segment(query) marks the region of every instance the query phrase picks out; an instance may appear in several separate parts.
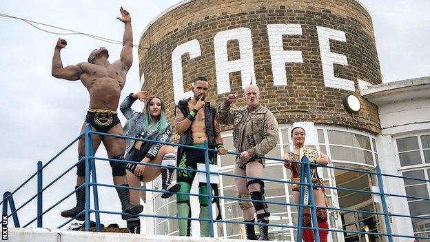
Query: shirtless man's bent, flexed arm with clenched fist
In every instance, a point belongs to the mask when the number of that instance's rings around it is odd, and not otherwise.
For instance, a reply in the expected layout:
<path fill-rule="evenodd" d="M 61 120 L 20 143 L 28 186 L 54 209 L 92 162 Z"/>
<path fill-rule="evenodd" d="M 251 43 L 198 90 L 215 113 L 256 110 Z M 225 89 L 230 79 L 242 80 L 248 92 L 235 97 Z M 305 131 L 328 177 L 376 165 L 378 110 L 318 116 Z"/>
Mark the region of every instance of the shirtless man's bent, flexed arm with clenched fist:
<path fill-rule="evenodd" d="M 65 48 L 65 46 L 67 46 L 67 42 L 64 39 L 58 39 L 54 50 L 54 56 L 52 57 L 52 76 L 69 81 L 79 80 L 82 73 L 82 69 L 79 65 L 68 65 L 63 68 L 60 50 Z"/>

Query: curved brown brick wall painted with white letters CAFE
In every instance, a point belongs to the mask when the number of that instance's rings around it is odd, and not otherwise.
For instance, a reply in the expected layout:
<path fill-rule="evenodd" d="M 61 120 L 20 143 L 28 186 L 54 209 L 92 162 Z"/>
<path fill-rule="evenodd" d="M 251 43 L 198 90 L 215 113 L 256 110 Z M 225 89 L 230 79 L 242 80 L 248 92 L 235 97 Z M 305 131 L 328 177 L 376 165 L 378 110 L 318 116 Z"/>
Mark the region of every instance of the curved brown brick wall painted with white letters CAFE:
<path fill-rule="evenodd" d="M 209 79 L 207 101 L 216 105 L 256 79 L 260 102 L 279 123 L 314 121 L 380 133 L 378 110 L 358 88 L 358 80 L 381 83 L 371 17 L 355 0 L 316 2 L 179 3 L 141 35 L 143 90 L 163 97 L 173 122 L 175 99 L 185 97 L 195 77 Z M 362 103 L 354 117 L 342 105 L 347 94 Z"/>

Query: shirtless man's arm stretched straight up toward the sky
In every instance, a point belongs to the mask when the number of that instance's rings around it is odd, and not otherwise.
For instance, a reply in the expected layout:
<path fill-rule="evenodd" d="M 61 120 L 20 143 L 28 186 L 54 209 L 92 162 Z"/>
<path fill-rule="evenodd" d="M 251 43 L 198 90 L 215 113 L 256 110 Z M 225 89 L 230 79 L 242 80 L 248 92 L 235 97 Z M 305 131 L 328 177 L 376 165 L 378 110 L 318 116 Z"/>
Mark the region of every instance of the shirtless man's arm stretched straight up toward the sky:
<path fill-rule="evenodd" d="M 119 21 L 124 23 L 124 35 L 123 35 L 123 50 L 121 50 L 120 59 L 123 64 L 123 70 L 129 70 L 133 63 L 133 32 L 132 32 L 132 17 L 123 7 L 119 9 L 121 12 L 121 18 L 117 17 Z"/>

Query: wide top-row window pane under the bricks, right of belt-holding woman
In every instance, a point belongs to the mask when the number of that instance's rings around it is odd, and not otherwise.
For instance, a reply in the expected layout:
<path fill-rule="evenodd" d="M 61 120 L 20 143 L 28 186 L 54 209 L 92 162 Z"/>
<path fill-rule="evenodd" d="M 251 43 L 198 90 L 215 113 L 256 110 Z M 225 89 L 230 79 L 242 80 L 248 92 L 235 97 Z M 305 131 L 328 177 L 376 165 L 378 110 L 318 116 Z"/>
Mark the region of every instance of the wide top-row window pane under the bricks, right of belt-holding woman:
<path fill-rule="evenodd" d="M 357 148 L 371 150 L 370 139 L 361 134 L 353 134 L 336 130 L 328 130 L 329 143 L 336 145 L 349 145 Z"/>

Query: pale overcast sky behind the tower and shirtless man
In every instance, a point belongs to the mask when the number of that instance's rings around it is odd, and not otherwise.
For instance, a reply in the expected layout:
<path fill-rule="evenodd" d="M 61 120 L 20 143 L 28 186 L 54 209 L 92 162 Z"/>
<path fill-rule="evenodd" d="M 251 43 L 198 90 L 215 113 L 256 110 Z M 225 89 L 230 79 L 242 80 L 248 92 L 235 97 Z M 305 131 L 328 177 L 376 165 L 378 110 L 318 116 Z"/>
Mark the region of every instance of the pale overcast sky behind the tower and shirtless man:
<path fill-rule="evenodd" d="M 119 7 L 132 16 L 134 44 L 147 24 L 158 14 L 178 3 L 174 0 L 152 1 L 22 1 L 3 0 L 0 14 L 8 14 L 52 26 L 76 30 L 121 41 L 123 23 Z M 430 76 L 430 1 L 428 0 L 361 0 L 373 19 L 376 46 L 383 82 Z M 52 32 L 67 31 L 38 26 Z M 65 81 L 51 76 L 54 46 L 61 37 L 68 46 L 61 51 L 63 65 L 86 61 L 94 48 L 106 47 L 111 63 L 119 58 L 121 45 L 103 42 L 81 34 L 50 34 L 17 19 L 0 17 L 0 192 L 14 190 L 36 172 L 37 161 L 50 160 L 79 135 L 88 109 L 88 91 L 80 81 Z M 134 63 L 120 102 L 130 92 L 139 90 L 139 61 L 133 50 Z M 136 102 L 134 109 L 140 109 Z M 121 123 L 125 118 L 119 114 Z M 106 157 L 103 146 L 96 156 Z M 76 145 L 43 170 L 44 185 L 77 161 Z M 69 172 L 43 194 L 44 209 L 72 190 L 74 172 Z M 109 165 L 97 165 L 100 183 L 112 183 Z M 36 194 L 36 181 L 14 196 L 17 206 Z M 100 188 L 101 209 L 120 210 L 116 193 Z M 21 226 L 36 216 L 35 200 L 19 213 Z M 71 208 L 74 197 L 48 212 L 44 227 L 63 223 L 61 210 Z M 102 216 L 102 222 L 125 225 L 117 216 Z M 12 224 L 12 220 L 9 221 Z M 36 226 L 35 223 L 32 225 Z"/>

